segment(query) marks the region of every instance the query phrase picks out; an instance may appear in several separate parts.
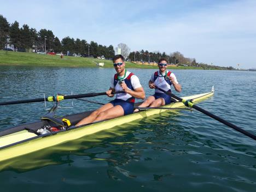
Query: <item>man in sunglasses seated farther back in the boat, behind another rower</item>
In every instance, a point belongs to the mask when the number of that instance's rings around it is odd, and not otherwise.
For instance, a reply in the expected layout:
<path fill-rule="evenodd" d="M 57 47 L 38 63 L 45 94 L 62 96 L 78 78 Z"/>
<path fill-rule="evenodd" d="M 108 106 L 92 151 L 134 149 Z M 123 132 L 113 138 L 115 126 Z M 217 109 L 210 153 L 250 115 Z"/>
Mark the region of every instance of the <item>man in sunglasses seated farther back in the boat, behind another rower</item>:
<path fill-rule="evenodd" d="M 152 74 L 148 86 L 150 89 L 155 89 L 155 94 L 149 96 L 146 101 L 140 104 L 138 107 L 160 107 L 165 104 L 171 103 L 171 97 L 164 92 L 156 89 L 161 88 L 165 91 L 171 92 L 171 85 L 178 92 L 181 92 L 181 85 L 178 83 L 176 76 L 171 71 L 167 71 L 167 60 L 162 58 L 158 61 L 159 71 Z M 134 112 L 138 112 L 135 109 Z"/>

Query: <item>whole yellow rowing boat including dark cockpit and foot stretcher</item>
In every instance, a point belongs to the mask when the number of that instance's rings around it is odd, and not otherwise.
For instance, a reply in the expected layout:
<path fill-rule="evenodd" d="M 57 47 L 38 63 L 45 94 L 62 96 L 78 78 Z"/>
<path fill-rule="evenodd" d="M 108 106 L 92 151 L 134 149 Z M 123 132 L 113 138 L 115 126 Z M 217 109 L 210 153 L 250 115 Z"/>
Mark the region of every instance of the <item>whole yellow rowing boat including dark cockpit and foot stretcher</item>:
<path fill-rule="evenodd" d="M 213 93 L 214 91 L 212 90 L 211 92 L 206 92 L 204 94 L 182 97 L 182 99 L 197 102 L 212 96 Z M 135 106 L 138 106 L 139 104 L 140 103 L 136 103 Z M 42 121 L 38 121 L 36 123 L 28 123 L 11 127 L 7 130 L 0 131 L 0 161 L 36 152 L 44 148 L 49 148 L 57 144 L 65 143 L 86 135 L 91 135 L 98 131 L 110 129 L 114 126 L 129 123 L 131 121 L 149 117 L 168 110 L 164 108 L 175 109 L 183 106 L 183 102 L 177 100 L 176 102 L 162 106 L 163 109 L 140 110 L 137 113 L 125 115 L 123 117 L 77 127 L 71 126 L 65 130 L 59 129 L 58 131 L 46 132 L 41 135 L 37 133 L 37 130 L 49 123 L 48 118 L 43 118 Z M 87 117 L 91 112 L 92 111 L 88 111 L 56 118 L 56 121 L 50 121 L 50 125 L 51 127 L 59 128 L 60 125 L 58 120 L 61 121 L 62 119 L 68 119 L 72 125 L 75 125 L 81 119 Z"/>

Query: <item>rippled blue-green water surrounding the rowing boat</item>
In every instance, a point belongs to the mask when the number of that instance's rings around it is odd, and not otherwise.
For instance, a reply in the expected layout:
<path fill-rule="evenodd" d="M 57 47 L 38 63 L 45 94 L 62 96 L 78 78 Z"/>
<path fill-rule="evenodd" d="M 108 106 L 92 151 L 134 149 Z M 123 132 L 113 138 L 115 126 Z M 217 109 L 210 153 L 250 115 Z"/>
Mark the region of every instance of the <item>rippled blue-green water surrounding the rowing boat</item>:
<path fill-rule="evenodd" d="M 154 69 L 130 69 L 146 90 Z M 0 66 L 0 101 L 103 92 L 114 69 Z M 199 106 L 256 134 L 256 74 L 173 70 L 182 92 L 209 92 Z M 91 98 L 108 102 L 106 96 Z M 78 100 L 58 115 L 96 109 Z M 63 101 L 62 107 L 72 106 Z M 48 108 L 50 104 L 48 103 Z M 1 106 L 0 130 L 36 121 L 44 103 Z M 167 112 L 1 164 L 6 191 L 254 191 L 255 141 L 206 115 Z"/>

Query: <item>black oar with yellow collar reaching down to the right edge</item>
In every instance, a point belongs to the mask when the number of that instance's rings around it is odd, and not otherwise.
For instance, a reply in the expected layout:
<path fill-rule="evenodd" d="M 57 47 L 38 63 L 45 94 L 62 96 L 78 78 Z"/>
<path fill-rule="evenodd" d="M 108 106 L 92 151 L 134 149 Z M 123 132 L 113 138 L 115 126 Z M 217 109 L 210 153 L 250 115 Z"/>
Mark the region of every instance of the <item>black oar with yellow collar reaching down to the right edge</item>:
<path fill-rule="evenodd" d="M 161 89 L 161 88 L 156 87 L 156 89 L 158 89 L 158 90 L 164 92 L 164 93 L 167 94 L 167 95 L 170 95 L 171 97 L 175 98 L 175 99 L 178 100 L 178 101 L 183 102 L 183 103 L 185 104 L 185 106 L 190 107 L 190 108 L 194 108 L 194 109 L 196 109 L 196 110 L 199 110 L 199 111 L 202 112 L 203 114 L 206 114 L 206 115 L 208 115 L 209 117 L 211 117 L 211 118 L 213 118 L 213 119 L 216 119 L 216 120 L 219 121 L 220 123 L 223 123 L 223 124 L 225 124 L 226 126 L 229 126 L 229 127 L 231 127 L 232 129 L 234 129 L 234 130 L 236 130 L 236 131 L 238 131 L 238 132 L 243 133 L 243 135 L 246 135 L 246 136 L 251 137 L 252 139 L 256 140 L 256 136 L 253 135 L 252 133 L 249 133 L 249 132 L 247 132 L 247 131 L 241 129 L 240 127 L 238 127 L 238 126 L 236 126 L 236 125 L 234 125 L 234 124 L 232 124 L 232 123 L 229 123 L 228 121 L 226 121 L 226 120 L 224 120 L 224 119 L 222 119 L 222 118 L 220 118 L 220 117 L 218 117 L 218 116 L 216 116 L 216 115 L 214 115 L 214 114 L 208 112 L 207 110 L 202 109 L 201 107 L 196 106 L 194 103 L 192 103 L 192 102 L 190 102 L 190 101 L 188 101 L 188 100 L 184 100 L 183 98 L 178 97 L 178 96 L 172 94 L 171 92 L 167 92 L 167 91 L 165 91 L 165 90 L 163 90 L 163 89 Z"/>

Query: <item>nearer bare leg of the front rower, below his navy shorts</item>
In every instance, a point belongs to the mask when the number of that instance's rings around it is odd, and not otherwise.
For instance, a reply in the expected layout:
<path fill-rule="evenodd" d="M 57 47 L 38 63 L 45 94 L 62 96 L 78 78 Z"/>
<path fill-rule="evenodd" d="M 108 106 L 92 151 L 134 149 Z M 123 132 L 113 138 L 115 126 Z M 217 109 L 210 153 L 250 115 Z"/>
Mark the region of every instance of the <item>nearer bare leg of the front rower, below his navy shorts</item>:
<path fill-rule="evenodd" d="M 101 121 L 104 119 L 113 119 L 121 116 L 124 116 L 124 109 L 123 107 L 117 105 L 115 107 L 109 108 L 99 113 L 97 115 L 97 118 L 94 121 Z"/>

